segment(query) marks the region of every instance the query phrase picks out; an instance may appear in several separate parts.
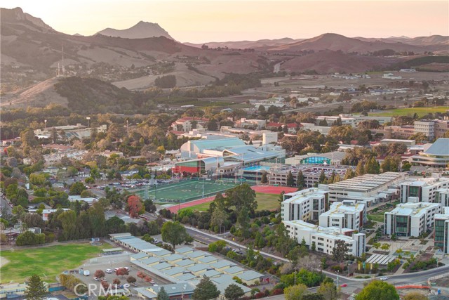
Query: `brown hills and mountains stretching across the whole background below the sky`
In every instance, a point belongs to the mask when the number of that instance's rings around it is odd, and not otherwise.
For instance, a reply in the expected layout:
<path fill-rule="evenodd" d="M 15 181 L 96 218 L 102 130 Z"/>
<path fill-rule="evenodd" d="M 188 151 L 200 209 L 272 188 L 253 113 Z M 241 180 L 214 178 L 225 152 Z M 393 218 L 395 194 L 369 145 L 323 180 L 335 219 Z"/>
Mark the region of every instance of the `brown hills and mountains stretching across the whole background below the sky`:
<path fill-rule="evenodd" d="M 2 71 L 5 67 L 9 67 L 8 70 L 18 69 L 17 67 L 32 69 L 27 72 L 29 81 L 43 81 L 54 77 L 58 65 L 64 65 L 72 72 L 83 70 L 83 74 L 93 76 L 91 72 L 98 65 L 107 65 L 110 69 L 119 66 L 145 67 L 145 70 L 152 70 L 152 66 L 158 63 L 170 63 L 173 70 L 163 74 L 175 75 L 177 86 L 208 84 L 232 72 L 269 73 L 273 72 L 277 63 L 281 63 L 281 71 L 314 70 L 321 74 L 389 70 L 389 67 L 397 69 L 398 66 L 420 65 L 427 65 L 426 70 L 441 71 L 447 70 L 446 66 L 449 65 L 449 37 L 439 35 L 378 39 L 351 38 L 326 33 L 311 39 L 286 37 L 258 41 L 210 42 L 204 43 L 208 46 L 206 49 L 201 48 L 203 44 L 177 42 L 166 30 L 151 22 L 138 22 L 126 30 L 107 28 L 93 36 L 85 37 L 53 30 L 43 20 L 24 13 L 21 8 L 1 8 L 0 13 Z M 406 52 L 408 56 L 373 56 L 375 51 L 382 52 L 386 49 L 390 49 L 387 53 Z M 429 56 L 429 51 L 436 56 Z M 22 70 L 15 72 L 24 74 Z M 113 84 L 119 88 L 147 89 L 160 74 L 156 70 L 150 74 L 142 73 L 138 78 L 131 76 L 130 79 L 117 79 L 121 81 L 115 81 Z M 100 78 L 115 80 L 108 76 L 102 74 Z M 33 101 L 41 105 L 51 103 L 52 99 L 55 99 L 51 89 L 53 84 L 51 80 L 45 81 L 34 89 L 29 88 L 26 93 L 17 92 L 9 99 L 13 103 L 20 103 L 27 97 L 30 101 L 38 99 Z M 105 88 L 106 90 L 112 89 Z M 8 97 L 10 95 L 6 95 L 4 99 Z"/>

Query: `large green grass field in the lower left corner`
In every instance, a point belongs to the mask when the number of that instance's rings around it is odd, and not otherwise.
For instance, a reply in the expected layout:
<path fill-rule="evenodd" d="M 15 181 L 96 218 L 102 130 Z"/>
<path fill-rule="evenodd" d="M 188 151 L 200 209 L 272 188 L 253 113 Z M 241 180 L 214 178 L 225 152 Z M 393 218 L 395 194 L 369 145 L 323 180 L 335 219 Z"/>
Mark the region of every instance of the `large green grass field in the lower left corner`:
<path fill-rule="evenodd" d="M 98 256 L 109 244 L 61 244 L 51 247 L 2 251 L 1 258 L 9 262 L 1 267 L 1 282 L 24 282 L 37 274 L 48 282 L 55 282 L 55 276 L 63 270 L 81 266 L 83 261 Z"/>

